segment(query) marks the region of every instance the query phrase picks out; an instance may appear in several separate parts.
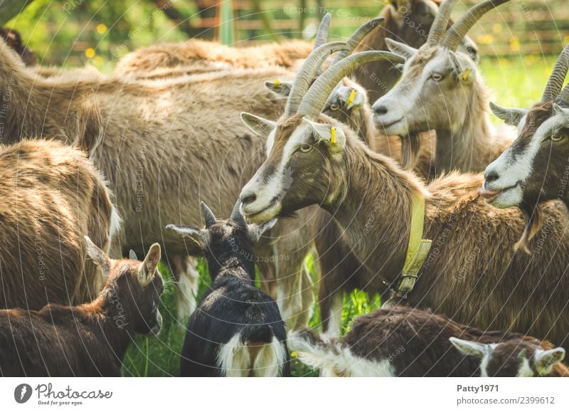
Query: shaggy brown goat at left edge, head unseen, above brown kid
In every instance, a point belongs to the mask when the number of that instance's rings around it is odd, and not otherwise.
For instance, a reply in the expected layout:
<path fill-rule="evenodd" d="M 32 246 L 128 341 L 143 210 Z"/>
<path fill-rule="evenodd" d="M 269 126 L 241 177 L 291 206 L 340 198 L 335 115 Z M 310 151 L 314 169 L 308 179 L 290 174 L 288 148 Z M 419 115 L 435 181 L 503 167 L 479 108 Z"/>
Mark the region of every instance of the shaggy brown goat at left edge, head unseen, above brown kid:
<path fill-rule="evenodd" d="M 75 144 L 85 152 L 52 140 L 0 145 L 0 308 L 88 302 L 102 286 L 81 237 L 108 250 L 119 218 L 85 155 L 100 137 L 97 114 L 81 113 Z"/>

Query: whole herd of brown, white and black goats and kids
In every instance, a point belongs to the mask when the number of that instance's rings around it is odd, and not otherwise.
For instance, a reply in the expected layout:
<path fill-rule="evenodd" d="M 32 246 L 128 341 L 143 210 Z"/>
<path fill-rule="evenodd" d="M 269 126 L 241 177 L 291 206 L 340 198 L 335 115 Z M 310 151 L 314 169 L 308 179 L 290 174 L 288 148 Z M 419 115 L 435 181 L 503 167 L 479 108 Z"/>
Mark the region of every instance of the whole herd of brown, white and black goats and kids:
<path fill-rule="evenodd" d="M 345 43 L 326 15 L 314 46 L 159 44 L 110 75 L 26 66 L 4 33 L 0 375 L 119 376 L 161 329 L 164 260 L 183 376 L 289 376 L 289 349 L 322 376 L 569 376 L 569 46 L 530 110 L 490 103 L 467 31 L 507 1 L 454 23 L 455 0 L 391 1 Z M 390 299 L 340 339 L 354 288 Z"/>

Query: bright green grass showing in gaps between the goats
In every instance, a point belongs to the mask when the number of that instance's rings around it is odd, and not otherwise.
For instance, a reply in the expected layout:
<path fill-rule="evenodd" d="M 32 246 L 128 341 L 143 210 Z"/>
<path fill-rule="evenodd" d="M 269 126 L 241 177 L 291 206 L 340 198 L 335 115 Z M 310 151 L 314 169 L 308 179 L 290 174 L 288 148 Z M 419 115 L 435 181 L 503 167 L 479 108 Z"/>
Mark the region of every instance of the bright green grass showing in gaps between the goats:
<path fill-rule="evenodd" d="M 538 58 L 528 56 L 516 60 L 485 59 L 480 69 L 486 80 L 486 85 L 493 92 L 492 100 L 504 106 L 530 107 L 541 99 L 543 88 L 547 82 L 555 58 Z M 501 121 L 492 115 L 493 122 Z M 317 283 L 317 268 L 314 260 L 309 256 L 307 265 L 312 278 Z M 209 282 L 207 264 L 201 262 L 201 273 L 198 299 L 201 297 Z M 171 279 L 169 271 L 161 266 L 161 273 L 166 279 Z M 341 333 L 347 332 L 353 319 L 364 313 L 380 307 L 379 297 L 368 299 L 365 293 L 353 291 L 344 297 L 342 311 Z M 169 283 L 161 301 L 161 313 L 164 317 L 164 326 L 158 337 L 151 339 L 138 337 L 131 345 L 124 360 L 123 374 L 125 376 L 178 376 L 179 358 L 184 343 L 184 327 L 176 319 L 176 302 L 174 300 L 174 285 Z M 320 327 L 318 305 L 314 307 L 314 315 L 309 323 L 310 327 Z M 294 354 L 293 354 L 294 355 Z M 301 364 L 293 356 L 293 374 L 295 376 L 317 376 L 307 366 Z"/>

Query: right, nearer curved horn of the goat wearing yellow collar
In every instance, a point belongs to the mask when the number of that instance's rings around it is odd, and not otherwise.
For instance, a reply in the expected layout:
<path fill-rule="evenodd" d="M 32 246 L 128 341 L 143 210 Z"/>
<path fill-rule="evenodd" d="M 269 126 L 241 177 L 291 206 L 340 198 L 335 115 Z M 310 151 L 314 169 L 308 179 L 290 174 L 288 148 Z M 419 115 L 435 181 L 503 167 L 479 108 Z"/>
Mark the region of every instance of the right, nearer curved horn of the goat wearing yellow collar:
<path fill-rule="evenodd" d="M 317 78 L 310 90 L 308 90 L 307 95 L 302 99 L 298 112 L 309 118 L 312 117 L 314 119 L 318 117 L 330 93 L 344 76 L 351 73 L 359 65 L 378 60 L 387 60 L 393 64 L 405 62 L 404 58 L 388 51 L 362 51 L 346 57 Z"/>

